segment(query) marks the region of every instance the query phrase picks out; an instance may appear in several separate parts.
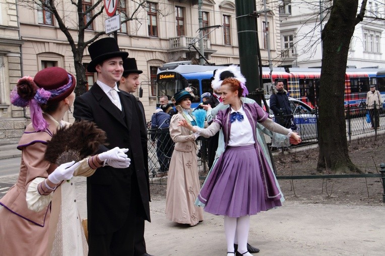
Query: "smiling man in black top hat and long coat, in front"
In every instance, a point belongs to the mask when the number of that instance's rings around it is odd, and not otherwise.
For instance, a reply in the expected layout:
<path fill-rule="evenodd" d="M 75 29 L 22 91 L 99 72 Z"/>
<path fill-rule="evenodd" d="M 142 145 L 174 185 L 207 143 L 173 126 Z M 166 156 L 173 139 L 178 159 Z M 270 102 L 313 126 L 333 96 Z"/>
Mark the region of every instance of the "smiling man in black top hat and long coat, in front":
<path fill-rule="evenodd" d="M 123 59 L 113 38 L 102 38 L 88 47 L 91 56 L 87 70 L 97 72 L 90 91 L 75 99 L 76 120 L 90 120 L 107 134 L 110 148 L 128 148 L 128 168 L 103 166 L 87 178 L 88 255 L 134 255 L 135 220 L 150 221 L 146 172 L 147 136 L 141 110 L 135 97 L 116 86 L 123 73 Z"/>

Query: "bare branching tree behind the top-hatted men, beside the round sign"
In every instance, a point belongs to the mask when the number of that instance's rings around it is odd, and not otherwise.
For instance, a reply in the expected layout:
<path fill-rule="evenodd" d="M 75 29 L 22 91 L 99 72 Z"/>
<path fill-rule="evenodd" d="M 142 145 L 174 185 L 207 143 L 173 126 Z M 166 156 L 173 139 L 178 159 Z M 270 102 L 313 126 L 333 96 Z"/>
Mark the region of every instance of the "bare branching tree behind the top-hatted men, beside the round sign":
<path fill-rule="evenodd" d="M 68 11 L 62 10 L 62 7 L 66 3 L 76 7 L 77 22 L 68 18 Z M 131 15 L 127 15 L 121 12 L 124 17 L 121 19 L 121 23 L 132 21 L 137 19 L 136 14 L 141 8 L 146 8 L 147 0 L 132 0 L 135 3 L 136 9 L 131 10 Z M 93 31 L 93 33 L 87 33 L 87 36 L 91 37 L 86 40 L 85 33 L 92 23 L 103 13 L 104 5 L 103 0 L 97 0 L 94 4 L 90 5 L 87 10 L 83 9 L 83 4 L 90 4 L 91 1 L 85 0 L 19 0 L 19 5 L 23 5 L 27 8 L 34 9 L 36 6 L 40 9 L 44 9 L 46 12 L 50 12 L 56 19 L 57 25 L 60 30 L 65 34 L 70 44 L 71 51 L 74 55 L 74 66 L 76 71 L 77 87 L 75 93 L 77 96 L 86 92 L 86 70 L 83 66 L 83 55 L 86 47 L 98 39 L 101 35 L 105 34 L 104 31 Z M 120 3 L 119 3 L 120 5 Z M 128 10 L 127 10 L 128 11 Z M 72 27 L 70 27 L 71 25 Z M 74 29 L 74 27 L 76 29 Z M 74 33 L 76 32 L 76 33 Z"/>

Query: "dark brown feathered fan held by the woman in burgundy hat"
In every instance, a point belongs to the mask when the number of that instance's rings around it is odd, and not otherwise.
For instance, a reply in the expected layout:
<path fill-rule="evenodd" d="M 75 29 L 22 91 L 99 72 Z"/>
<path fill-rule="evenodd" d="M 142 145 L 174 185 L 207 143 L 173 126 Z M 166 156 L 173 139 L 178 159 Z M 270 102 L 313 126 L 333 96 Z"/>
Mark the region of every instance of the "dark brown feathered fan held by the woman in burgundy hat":
<path fill-rule="evenodd" d="M 53 135 L 47 143 L 44 159 L 57 165 L 79 161 L 94 155 L 106 140 L 106 133 L 93 122 L 75 122 L 69 127 L 60 128 Z"/>

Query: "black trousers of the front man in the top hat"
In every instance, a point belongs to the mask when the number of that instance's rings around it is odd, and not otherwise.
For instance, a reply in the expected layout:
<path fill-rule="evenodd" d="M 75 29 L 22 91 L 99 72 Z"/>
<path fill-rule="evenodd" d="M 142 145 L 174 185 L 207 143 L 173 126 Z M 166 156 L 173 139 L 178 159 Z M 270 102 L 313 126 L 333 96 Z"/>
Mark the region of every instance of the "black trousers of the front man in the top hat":
<path fill-rule="evenodd" d="M 118 230 L 106 234 L 88 234 L 88 256 L 133 256 L 137 211 L 143 209 L 135 172 L 131 177 L 130 209 Z M 118 211 L 119 209 L 112 209 Z M 142 210 L 143 211 L 143 210 Z"/>

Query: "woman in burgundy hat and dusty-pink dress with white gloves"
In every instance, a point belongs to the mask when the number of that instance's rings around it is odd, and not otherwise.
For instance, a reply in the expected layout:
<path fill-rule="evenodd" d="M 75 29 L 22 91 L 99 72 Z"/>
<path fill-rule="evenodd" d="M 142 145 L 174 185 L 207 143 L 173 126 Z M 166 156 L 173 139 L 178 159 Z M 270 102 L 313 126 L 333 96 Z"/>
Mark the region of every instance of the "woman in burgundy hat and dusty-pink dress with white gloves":
<path fill-rule="evenodd" d="M 18 144 L 22 150 L 18 181 L 0 200 L 0 255 L 85 255 L 88 248 L 82 242 L 74 186 L 63 181 L 74 175 L 90 176 L 108 160 L 120 159 L 123 167 L 130 165 L 124 149 L 119 148 L 59 166 L 45 159 L 52 136 L 70 125 L 62 118 L 74 103 L 75 86 L 74 75 L 49 67 L 34 78 L 19 79 L 11 92 L 13 105 L 29 106 L 31 124 Z M 67 236 L 57 236 L 56 232 Z"/>

